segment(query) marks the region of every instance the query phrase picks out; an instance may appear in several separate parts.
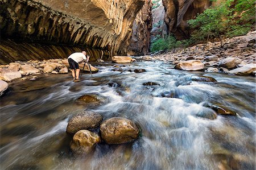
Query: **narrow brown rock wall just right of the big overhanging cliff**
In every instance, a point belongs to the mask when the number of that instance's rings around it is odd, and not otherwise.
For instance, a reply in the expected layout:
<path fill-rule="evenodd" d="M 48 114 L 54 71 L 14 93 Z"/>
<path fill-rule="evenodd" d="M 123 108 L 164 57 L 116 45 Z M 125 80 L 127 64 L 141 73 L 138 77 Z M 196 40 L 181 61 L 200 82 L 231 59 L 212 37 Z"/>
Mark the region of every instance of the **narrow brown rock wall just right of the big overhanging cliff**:
<path fill-rule="evenodd" d="M 133 22 L 133 34 L 130 38 L 128 55 L 146 55 L 150 47 L 150 31 L 152 28 L 151 0 L 143 5 Z"/>

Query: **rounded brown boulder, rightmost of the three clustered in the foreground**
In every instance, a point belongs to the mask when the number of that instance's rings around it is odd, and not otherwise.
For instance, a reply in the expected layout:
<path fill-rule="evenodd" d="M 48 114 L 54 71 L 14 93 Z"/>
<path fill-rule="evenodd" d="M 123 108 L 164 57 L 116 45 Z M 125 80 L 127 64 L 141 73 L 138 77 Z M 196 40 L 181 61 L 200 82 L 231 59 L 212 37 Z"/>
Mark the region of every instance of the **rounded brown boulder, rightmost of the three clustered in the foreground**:
<path fill-rule="evenodd" d="M 108 144 L 131 142 L 138 138 L 139 128 L 129 119 L 114 117 L 100 126 L 101 138 Z"/>

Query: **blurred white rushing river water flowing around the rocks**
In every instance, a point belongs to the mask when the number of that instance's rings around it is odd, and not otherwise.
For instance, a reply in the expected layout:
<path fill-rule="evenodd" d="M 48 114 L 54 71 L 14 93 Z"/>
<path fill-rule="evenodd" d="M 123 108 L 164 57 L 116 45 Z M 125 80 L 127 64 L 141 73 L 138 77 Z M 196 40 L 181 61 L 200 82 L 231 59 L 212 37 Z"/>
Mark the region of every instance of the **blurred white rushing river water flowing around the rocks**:
<path fill-rule="evenodd" d="M 1 169 L 255 169 L 255 77 L 178 71 L 162 61 L 121 66 L 125 72 L 98 66 L 100 72 L 83 74 L 80 82 L 65 74 L 10 84 L 1 97 Z M 146 72 L 128 71 L 141 68 Z M 203 74 L 217 82 L 191 81 Z M 103 102 L 78 105 L 84 94 Z M 208 104 L 237 116 L 212 119 Z M 65 130 L 82 110 L 129 118 L 141 136 L 72 155 Z"/>

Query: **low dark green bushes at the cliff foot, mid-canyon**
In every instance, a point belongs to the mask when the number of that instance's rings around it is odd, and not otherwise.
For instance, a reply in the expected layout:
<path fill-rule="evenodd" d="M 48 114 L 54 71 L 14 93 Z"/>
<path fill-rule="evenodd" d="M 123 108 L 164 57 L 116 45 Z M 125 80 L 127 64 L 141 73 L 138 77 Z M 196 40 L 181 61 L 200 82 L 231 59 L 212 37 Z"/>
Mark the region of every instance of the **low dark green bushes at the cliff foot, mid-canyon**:
<path fill-rule="evenodd" d="M 174 35 L 169 35 L 167 38 L 158 38 L 151 43 L 151 52 L 167 50 L 167 49 L 175 49 L 179 47 L 188 47 L 191 44 L 191 40 L 176 40 Z"/>

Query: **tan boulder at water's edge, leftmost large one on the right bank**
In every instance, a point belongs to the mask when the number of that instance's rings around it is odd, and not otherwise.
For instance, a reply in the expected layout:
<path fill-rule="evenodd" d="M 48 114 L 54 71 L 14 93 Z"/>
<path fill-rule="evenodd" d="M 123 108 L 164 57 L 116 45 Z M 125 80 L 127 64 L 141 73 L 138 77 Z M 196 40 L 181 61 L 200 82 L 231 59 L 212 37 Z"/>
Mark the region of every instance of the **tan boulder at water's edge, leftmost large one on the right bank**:
<path fill-rule="evenodd" d="M 184 71 L 200 71 L 204 69 L 204 64 L 200 60 L 181 61 L 175 66 L 175 69 L 182 69 Z"/>

